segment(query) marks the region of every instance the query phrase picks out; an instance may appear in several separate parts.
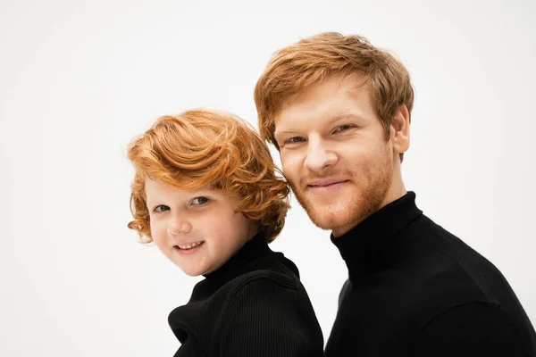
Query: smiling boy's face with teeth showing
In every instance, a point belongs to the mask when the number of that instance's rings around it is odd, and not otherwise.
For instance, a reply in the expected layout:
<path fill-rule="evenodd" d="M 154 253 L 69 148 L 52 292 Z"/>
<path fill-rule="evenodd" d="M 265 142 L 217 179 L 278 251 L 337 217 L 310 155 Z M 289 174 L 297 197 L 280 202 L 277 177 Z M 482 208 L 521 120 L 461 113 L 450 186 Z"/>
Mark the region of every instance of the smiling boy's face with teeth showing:
<path fill-rule="evenodd" d="M 236 212 L 237 195 L 210 187 L 184 191 L 151 179 L 145 190 L 155 244 L 189 276 L 217 270 L 255 234 L 251 220 Z"/>

